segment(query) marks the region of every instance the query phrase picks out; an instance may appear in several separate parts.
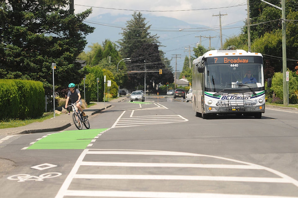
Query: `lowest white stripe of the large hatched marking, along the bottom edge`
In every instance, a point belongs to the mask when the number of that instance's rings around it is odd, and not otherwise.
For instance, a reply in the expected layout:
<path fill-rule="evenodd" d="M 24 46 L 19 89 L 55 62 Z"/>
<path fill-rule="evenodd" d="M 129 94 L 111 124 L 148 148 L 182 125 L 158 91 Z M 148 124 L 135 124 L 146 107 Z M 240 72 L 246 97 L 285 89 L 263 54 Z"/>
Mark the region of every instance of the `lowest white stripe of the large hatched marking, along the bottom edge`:
<path fill-rule="evenodd" d="M 88 197 L 146 197 L 146 198 L 181 198 L 181 197 L 204 197 L 204 198 L 286 198 L 284 196 L 258 196 L 239 194 L 218 193 L 195 193 L 195 192 L 143 192 L 143 191 L 81 191 L 67 190 L 65 196 L 88 196 Z M 297 197 L 287 197 L 297 198 Z"/>

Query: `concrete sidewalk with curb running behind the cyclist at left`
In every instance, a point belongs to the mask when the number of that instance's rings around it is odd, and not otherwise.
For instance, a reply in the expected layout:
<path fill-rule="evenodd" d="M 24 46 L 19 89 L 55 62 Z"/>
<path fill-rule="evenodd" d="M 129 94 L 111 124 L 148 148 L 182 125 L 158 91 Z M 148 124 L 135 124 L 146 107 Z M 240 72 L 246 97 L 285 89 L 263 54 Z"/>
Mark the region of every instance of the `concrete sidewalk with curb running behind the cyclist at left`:
<path fill-rule="evenodd" d="M 123 101 L 126 98 L 127 97 L 119 97 L 109 102 L 105 102 L 105 106 L 104 106 L 104 102 L 98 102 L 98 104 L 84 109 L 84 112 L 90 117 L 91 115 L 97 114 L 100 111 L 111 107 L 112 103 Z M 61 131 L 74 124 L 74 122 L 72 121 L 71 115 L 72 115 L 72 112 L 70 112 L 70 115 L 63 114 L 63 113 L 60 115 L 56 114 L 55 118 L 47 119 L 47 120 L 44 120 L 43 122 L 34 122 L 26 126 L 15 127 L 15 128 L 3 128 L 3 129 L 0 129 L 0 135 L 16 135 L 16 134 L 24 134 L 24 133 L 42 133 L 42 132 L 50 132 L 50 131 Z"/>

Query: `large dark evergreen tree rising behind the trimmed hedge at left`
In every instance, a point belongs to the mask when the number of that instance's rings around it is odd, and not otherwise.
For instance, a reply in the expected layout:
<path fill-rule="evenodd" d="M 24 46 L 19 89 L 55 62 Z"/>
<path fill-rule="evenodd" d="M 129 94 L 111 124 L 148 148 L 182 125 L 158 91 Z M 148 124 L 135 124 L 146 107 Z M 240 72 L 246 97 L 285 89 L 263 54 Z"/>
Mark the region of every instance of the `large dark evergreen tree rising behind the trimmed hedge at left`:
<path fill-rule="evenodd" d="M 52 91 L 51 63 L 56 63 L 55 85 L 79 83 L 85 75 L 76 57 L 94 28 L 83 23 L 91 14 L 66 10 L 67 0 L 6 0 L 0 2 L 0 78 L 43 82 Z"/>

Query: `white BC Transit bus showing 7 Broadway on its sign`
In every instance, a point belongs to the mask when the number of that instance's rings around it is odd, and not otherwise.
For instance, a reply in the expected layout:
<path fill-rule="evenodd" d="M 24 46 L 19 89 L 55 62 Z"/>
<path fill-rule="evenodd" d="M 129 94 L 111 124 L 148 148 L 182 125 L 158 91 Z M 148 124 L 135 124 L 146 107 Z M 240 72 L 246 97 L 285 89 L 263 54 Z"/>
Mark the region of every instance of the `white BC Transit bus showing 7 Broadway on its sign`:
<path fill-rule="evenodd" d="M 265 112 L 263 56 L 244 50 L 211 50 L 193 60 L 192 107 L 196 116 Z"/>

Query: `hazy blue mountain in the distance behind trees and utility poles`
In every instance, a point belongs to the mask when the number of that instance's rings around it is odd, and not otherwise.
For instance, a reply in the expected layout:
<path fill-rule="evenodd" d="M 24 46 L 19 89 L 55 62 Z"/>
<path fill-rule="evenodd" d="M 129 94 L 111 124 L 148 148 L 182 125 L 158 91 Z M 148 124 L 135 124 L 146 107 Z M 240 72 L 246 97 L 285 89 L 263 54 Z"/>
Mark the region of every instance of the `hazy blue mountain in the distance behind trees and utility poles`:
<path fill-rule="evenodd" d="M 189 24 L 185 21 L 177 20 L 170 17 L 152 16 L 150 14 L 143 14 L 143 17 L 146 18 L 145 22 L 148 22 L 147 25 L 151 25 L 151 28 L 149 30 L 151 34 L 157 34 L 157 36 L 159 36 L 161 45 L 165 46 L 160 47 L 160 49 L 165 52 L 165 57 L 169 59 L 173 58 L 173 61 L 171 61 L 171 65 L 174 69 L 174 55 L 178 54 L 178 57 L 181 57 L 177 59 L 178 71 L 181 71 L 183 68 L 185 56 L 189 56 L 189 51 L 185 48 L 189 48 L 189 46 L 191 49 L 193 47 L 196 47 L 196 43 L 200 42 L 200 35 L 202 36 L 201 44 L 206 48 L 209 47 L 209 34 L 210 37 L 216 36 L 216 38 L 211 38 L 211 47 L 214 47 L 215 49 L 220 48 L 219 28 L 217 28 L 216 31 L 210 31 L 208 30 L 209 28 L 206 26 Z M 105 39 L 110 39 L 112 42 L 116 42 L 121 39 L 122 35 L 120 33 L 123 32 L 121 28 L 125 28 L 126 21 L 131 19 L 132 15 L 113 16 L 107 13 L 85 20 L 88 25 L 96 28 L 92 34 L 89 34 L 86 37 L 88 44 L 85 48 L 85 51 L 90 50 L 90 48 L 88 48 L 88 45 L 92 45 L 92 43 L 102 44 Z M 244 22 L 238 22 L 237 24 L 233 24 L 233 26 L 224 26 L 222 29 L 223 43 L 226 38 L 232 35 L 240 34 L 241 27 L 243 25 Z M 179 29 L 183 30 L 179 31 Z M 208 38 L 203 38 L 203 36 Z M 191 55 L 193 56 L 193 52 L 191 52 Z"/>

